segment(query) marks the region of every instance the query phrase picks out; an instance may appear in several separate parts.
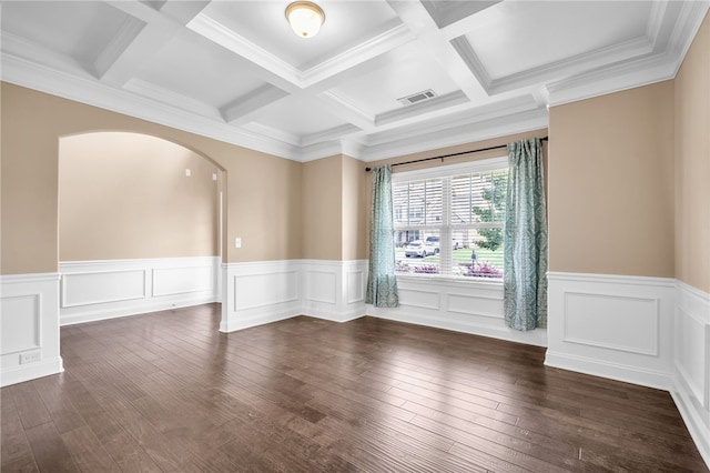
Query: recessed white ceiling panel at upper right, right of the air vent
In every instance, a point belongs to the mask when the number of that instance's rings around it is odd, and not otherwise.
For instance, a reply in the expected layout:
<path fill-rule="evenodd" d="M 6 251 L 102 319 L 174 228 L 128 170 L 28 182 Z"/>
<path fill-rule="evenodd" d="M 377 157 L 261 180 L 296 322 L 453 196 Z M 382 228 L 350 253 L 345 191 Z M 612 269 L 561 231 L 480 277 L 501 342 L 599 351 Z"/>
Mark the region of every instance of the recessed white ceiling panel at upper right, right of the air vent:
<path fill-rule="evenodd" d="M 491 79 L 524 72 L 646 37 L 651 2 L 500 2 L 466 34 Z"/>

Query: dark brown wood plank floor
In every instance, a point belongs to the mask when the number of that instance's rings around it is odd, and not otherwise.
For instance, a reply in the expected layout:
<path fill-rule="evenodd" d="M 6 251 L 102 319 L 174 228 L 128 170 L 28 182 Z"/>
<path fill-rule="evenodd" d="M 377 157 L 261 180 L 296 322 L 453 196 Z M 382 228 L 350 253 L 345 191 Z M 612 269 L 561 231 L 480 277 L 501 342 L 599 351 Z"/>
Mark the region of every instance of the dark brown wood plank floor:
<path fill-rule="evenodd" d="M 9 472 L 708 472 L 667 392 L 363 318 L 217 332 L 217 304 L 61 330 L 1 390 Z"/>

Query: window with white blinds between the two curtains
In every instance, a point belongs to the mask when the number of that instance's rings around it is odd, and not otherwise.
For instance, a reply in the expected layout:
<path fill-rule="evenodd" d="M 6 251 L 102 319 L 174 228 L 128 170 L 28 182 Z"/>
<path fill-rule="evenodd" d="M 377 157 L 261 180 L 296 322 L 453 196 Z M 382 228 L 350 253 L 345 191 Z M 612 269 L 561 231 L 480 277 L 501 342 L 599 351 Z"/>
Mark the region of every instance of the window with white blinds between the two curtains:
<path fill-rule="evenodd" d="M 506 158 L 393 174 L 398 274 L 503 278 Z"/>

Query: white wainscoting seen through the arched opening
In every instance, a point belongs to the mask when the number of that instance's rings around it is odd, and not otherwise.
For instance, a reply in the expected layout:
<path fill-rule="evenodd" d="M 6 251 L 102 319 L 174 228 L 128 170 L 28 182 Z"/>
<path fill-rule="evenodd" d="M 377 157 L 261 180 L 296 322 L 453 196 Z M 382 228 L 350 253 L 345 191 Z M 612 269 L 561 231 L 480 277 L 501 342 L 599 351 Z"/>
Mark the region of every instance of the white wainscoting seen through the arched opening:
<path fill-rule="evenodd" d="M 217 256 L 61 262 L 62 325 L 219 301 Z"/>

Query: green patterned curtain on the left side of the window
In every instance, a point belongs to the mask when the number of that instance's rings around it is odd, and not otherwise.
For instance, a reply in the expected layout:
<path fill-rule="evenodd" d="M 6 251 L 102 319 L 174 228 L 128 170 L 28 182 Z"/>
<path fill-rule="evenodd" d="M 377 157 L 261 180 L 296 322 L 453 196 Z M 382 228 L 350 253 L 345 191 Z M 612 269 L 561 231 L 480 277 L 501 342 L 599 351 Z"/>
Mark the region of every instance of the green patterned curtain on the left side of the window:
<path fill-rule="evenodd" d="M 369 271 L 365 302 L 376 308 L 396 308 L 395 225 L 392 205 L 392 169 L 373 169 L 373 203 L 369 224 Z"/>

